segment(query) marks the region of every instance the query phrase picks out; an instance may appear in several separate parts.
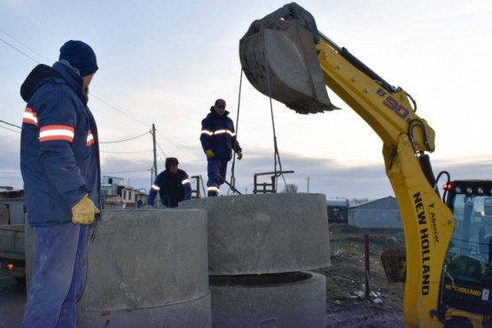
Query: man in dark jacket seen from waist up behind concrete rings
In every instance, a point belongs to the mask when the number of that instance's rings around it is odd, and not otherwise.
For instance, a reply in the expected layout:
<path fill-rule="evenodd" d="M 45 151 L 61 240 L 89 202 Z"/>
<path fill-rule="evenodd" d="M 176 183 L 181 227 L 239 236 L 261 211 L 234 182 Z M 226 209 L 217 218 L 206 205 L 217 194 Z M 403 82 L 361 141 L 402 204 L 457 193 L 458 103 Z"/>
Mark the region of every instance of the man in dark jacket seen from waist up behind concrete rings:
<path fill-rule="evenodd" d="M 166 159 L 166 170 L 155 178 L 147 204 L 154 205 L 158 192 L 160 201 L 165 207 L 177 207 L 180 201 L 191 199 L 190 178 L 184 170 L 177 168 L 178 164 L 178 160 L 174 157 Z"/>

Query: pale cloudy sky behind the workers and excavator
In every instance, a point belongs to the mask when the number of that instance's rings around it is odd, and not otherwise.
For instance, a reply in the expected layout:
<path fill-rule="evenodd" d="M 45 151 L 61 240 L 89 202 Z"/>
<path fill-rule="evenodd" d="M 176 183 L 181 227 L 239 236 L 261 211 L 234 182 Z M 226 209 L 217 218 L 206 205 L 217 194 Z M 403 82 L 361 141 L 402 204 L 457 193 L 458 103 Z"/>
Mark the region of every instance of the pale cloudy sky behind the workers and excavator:
<path fill-rule="evenodd" d="M 275 169 L 272 121 L 281 168 L 299 191 L 328 198 L 393 195 L 375 132 L 330 90 L 341 111 L 303 116 L 273 102 L 243 77 L 238 42 L 253 20 L 285 2 L 270 0 L 3 0 L 0 8 L 0 185 L 22 188 L 20 84 L 38 63 L 54 63 L 67 40 L 98 55 L 90 109 L 98 121 L 104 175 L 149 189 L 152 124 L 158 169 L 166 156 L 206 182 L 200 121 L 224 98 L 244 159 L 241 192 L 254 173 Z M 492 3 L 488 0 L 346 0 L 300 2 L 320 31 L 418 103 L 436 132 L 437 174 L 492 178 L 489 101 Z M 241 88 L 240 88 L 241 87 Z M 12 126 L 13 124 L 13 126 Z M 129 141 L 123 141 L 128 140 Z M 279 163 L 277 162 L 277 169 Z M 230 176 L 230 172 L 229 172 Z M 280 182 L 283 189 L 284 182 Z M 227 188 L 223 187 L 223 193 Z"/>

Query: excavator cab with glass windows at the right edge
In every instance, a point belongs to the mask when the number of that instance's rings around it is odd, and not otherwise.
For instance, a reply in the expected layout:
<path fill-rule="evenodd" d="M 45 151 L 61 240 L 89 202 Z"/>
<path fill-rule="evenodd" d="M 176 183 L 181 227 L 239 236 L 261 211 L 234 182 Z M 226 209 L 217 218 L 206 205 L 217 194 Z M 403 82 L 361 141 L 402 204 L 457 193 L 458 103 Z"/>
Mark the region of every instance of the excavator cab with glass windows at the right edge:
<path fill-rule="evenodd" d="M 446 204 L 454 215 L 455 230 L 442 270 L 440 308 L 490 317 L 492 181 L 453 181 L 445 185 L 444 191 Z M 486 326 L 489 325 L 492 322 Z"/>

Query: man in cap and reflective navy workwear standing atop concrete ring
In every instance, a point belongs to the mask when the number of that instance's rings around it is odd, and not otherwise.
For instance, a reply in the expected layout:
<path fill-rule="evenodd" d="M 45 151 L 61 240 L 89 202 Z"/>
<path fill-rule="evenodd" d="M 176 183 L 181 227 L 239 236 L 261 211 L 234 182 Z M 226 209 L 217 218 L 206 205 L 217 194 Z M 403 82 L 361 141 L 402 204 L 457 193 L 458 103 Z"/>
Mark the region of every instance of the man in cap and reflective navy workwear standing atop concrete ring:
<path fill-rule="evenodd" d="M 219 188 L 225 181 L 227 163 L 232 159 L 232 151 L 238 154 L 238 160 L 243 158 L 234 130 L 234 123 L 225 110 L 225 100 L 217 99 L 210 107 L 210 113 L 201 121 L 199 140 L 207 155 L 207 196 L 219 194 Z"/>

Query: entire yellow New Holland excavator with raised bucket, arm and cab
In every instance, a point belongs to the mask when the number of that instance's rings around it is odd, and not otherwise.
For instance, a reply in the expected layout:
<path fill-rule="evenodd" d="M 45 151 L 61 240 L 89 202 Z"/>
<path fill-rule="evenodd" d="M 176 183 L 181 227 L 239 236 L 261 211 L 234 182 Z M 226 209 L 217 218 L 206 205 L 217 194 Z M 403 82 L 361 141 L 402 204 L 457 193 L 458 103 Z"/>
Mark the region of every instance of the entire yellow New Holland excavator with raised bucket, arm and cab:
<path fill-rule="evenodd" d="M 396 264 L 405 326 L 492 327 L 492 181 L 451 181 L 448 172 L 436 178 L 428 155 L 434 130 L 415 101 L 320 33 L 299 4 L 255 20 L 239 58 L 249 82 L 269 98 L 297 113 L 323 113 L 338 109 L 328 87 L 382 139 L 405 236 Z"/>

